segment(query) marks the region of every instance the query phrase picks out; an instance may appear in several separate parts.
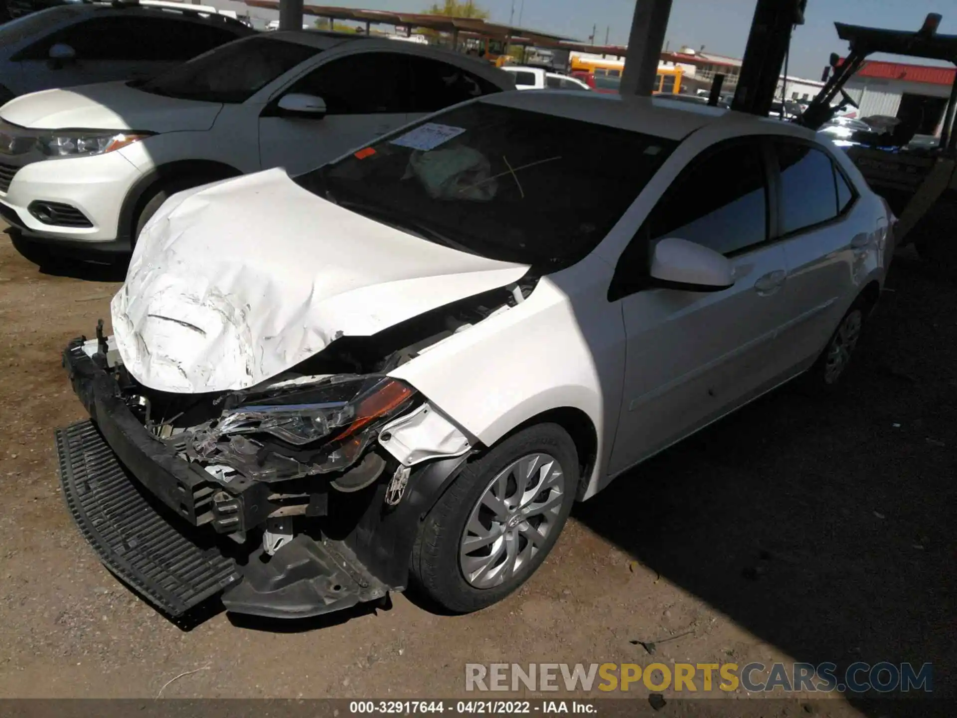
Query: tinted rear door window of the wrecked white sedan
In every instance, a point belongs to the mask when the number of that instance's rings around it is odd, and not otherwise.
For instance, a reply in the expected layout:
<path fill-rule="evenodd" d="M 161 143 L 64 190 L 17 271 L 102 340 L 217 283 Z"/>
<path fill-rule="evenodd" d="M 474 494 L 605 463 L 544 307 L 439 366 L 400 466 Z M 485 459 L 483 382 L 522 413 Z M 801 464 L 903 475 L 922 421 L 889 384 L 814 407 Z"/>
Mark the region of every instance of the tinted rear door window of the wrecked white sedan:
<path fill-rule="evenodd" d="M 835 169 L 821 149 L 796 142 L 774 142 L 781 172 L 781 234 L 790 235 L 837 215 Z"/>

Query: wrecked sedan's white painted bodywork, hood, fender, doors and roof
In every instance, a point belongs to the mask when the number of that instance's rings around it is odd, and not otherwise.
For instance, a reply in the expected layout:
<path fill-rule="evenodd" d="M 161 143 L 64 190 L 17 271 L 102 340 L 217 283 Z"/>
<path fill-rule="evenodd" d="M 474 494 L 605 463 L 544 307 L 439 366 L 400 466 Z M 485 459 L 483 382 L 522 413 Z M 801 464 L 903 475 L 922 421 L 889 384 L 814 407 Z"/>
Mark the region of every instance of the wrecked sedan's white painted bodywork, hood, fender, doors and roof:
<path fill-rule="evenodd" d="M 482 101 L 680 141 L 586 258 L 389 372 L 485 446 L 545 412 L 586 416 L 597 452 L 579 498 L 807 370 L 862 290 L 883 282 L 889 211 L 846 156 L 809 130 L 657 99 L 531 92 Z M 857 201 L 835 221 L 728 258 L 734 285 L 723 291 L 659 287 L 610 299 L 622 253 L 679 172 L 709 147 L 747 136 L 824 151 Z M 164 207 L 113 303 L 133 376 L 170 392 L 248 386 L 336 332 L 373 333 L 525 271 L 458 256 L 308 195 L 273 171 Z M 256 213 L 269 216 L 256 224 Z"/>

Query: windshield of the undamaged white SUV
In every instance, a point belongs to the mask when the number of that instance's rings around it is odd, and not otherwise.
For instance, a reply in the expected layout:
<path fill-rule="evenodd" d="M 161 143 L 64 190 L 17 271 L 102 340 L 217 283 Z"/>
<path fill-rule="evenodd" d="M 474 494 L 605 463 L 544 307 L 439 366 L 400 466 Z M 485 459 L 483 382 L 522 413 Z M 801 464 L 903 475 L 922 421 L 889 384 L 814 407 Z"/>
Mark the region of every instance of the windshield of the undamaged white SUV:
<path fill-rule="evenodd" d="M 319 52 L 319 48 L 298 42 L 247 37 L 193 57 L 140 85 L 140 89 L 181 100 L 245 102 Z"/>

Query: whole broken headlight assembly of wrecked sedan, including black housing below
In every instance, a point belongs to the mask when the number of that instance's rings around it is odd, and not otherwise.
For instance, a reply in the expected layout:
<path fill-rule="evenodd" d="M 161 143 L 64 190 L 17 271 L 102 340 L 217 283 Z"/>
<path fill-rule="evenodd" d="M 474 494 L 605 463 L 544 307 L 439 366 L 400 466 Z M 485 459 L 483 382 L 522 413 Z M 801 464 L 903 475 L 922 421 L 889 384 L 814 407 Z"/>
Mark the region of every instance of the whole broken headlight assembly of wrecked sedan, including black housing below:
<path fill-rule="evenodd" d="M 186 453 L 265 482 L 342 471 L 362 457 L 377 427 L 412 406 L 415 394 L 381 375 L 232 393 L 222 415 L 189 431 Z"/>

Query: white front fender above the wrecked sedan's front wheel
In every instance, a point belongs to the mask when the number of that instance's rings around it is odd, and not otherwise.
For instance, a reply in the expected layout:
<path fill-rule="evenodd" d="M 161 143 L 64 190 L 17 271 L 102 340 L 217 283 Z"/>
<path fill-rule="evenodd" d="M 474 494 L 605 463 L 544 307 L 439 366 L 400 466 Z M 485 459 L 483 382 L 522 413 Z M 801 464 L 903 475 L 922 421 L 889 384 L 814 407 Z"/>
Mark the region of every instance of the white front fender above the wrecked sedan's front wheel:
<path fill-rule="evenodd" d="M 543 277 L 523 303 L 390 375 L 412 384 L 486 446 L 545 412 L 581 411 L 597 437 L 591 495 L 607 465 L 625 366 L 621 309 L 607 299 L 610 280 L 605 262 L 586 258 Z"/>

